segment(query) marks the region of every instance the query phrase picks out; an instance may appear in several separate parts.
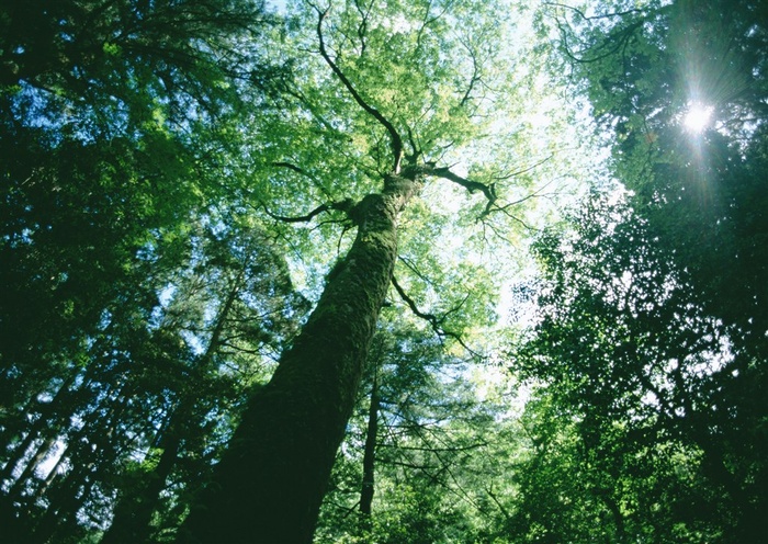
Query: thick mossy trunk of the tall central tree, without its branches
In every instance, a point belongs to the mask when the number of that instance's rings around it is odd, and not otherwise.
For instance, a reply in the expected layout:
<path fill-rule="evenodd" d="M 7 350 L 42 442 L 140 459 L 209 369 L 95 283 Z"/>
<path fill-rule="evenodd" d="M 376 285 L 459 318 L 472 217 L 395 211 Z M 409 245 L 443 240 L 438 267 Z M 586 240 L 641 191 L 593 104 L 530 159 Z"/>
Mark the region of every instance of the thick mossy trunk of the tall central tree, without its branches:
<path fill-rule="evenodd" d="M 317 522 L 397 256 L 397 216 L 420 183 L 389 175 L 352 211 L 358 235 L 272 379 L 251 397 L 181 542 L 305 543 Z"/>

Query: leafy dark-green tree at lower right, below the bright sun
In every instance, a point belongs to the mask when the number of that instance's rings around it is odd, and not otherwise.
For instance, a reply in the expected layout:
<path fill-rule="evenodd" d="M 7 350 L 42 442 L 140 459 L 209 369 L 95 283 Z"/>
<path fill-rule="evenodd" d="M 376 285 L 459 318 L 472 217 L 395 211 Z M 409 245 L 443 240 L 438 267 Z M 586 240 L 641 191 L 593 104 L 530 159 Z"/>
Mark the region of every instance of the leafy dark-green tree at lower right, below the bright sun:
<path fill-rule="evenodd" d="M 719 393 L 734 364 L 729 328 L 702 311 L 685 271 L 608 199 L 538 251 L 541 320 L 516 363 L 539 386 L 515 531 L 587 542 L 601 520 L 610 542 L 759 534 L 759 488 L 738 480 L 730 452 L 742 445 L 723 430 L 742 417 Z"/>

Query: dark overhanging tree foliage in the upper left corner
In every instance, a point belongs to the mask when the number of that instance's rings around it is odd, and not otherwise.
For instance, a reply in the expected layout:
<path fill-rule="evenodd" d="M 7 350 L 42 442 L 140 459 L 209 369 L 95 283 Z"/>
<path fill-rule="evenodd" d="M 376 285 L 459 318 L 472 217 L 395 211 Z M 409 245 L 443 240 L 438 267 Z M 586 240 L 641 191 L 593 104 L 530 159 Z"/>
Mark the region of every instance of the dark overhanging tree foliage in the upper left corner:
<path fill-rule="evenodd" d="M 122 302 L 118 287 L 139 281 L 124 277 L 137 256 L 178 234 L 210 190 L 195 162 L 222 134 L 206 121 L 224 125 L 242 98 L 226 81 L 262 66 L 252 47 L 242 48 L 247 60 L 228 55 L 266 25 L 261 15 L 259 5 L 230 2 L 2 8 L 9 405 L 56 376 L 57 359 L 77 358 L 102 311 Z"/>

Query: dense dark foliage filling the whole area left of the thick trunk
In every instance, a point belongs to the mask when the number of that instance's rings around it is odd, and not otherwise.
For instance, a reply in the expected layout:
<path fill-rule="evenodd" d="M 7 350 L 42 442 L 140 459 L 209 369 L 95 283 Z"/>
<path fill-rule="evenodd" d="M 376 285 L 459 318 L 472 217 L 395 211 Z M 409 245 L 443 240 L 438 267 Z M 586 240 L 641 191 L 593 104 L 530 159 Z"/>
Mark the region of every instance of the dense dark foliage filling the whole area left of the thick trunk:
<path fill-rule="evenodd" d="M 35 1 L 0 24 L 4 536 L 75 542 L 118 501 L 117 540 L 143 540 L 155 511 L 178 524 L 161 491 L 206 473 L 306 310 L 212 160 L 278 77 L 269 16 Z"/>

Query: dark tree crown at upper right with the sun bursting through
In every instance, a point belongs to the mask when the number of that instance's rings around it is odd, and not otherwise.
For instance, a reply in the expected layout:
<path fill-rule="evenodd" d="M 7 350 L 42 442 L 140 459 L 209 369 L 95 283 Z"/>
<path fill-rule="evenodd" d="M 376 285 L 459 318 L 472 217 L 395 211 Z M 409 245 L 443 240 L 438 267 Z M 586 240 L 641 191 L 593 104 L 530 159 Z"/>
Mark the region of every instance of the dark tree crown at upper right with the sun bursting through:
<path fill-rule="evenodd" d="M 589 19 L 565 10 L 574 20 L 560 26 L 566 61 L 614 136 L 614 171 L 637 213 L 690 265 L 710 311 L 761 336 L 765 292 L 755 273 L 766 256 L 755 248 L 766 224 L 752 206 L 765 199 L 756 181 L 768 114 L 765 9 L 750 1 L 624 8 L 606 4 Z M 686 125 L 697 112 L 709 112 L 701 132 Z"/>

